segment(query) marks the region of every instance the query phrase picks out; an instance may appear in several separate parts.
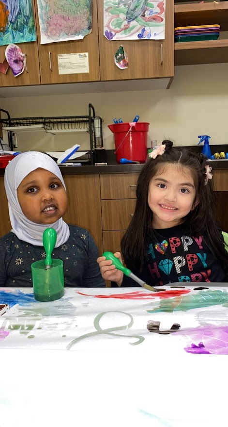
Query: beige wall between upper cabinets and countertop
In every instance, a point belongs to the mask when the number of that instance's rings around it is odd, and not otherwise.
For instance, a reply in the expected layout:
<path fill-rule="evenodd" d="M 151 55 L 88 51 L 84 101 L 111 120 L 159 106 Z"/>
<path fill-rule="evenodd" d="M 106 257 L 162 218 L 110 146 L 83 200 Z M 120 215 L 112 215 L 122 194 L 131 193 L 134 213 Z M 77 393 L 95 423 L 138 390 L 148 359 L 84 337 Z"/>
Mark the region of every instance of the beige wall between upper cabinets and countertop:
<path fill-rule="evenodd" d="M 12 117 L 88 114 L 88 104 L 103 117 L 104 147 L 114 148 L 107 128 L 113 118 L 131 121 L 136 114 L 150 123 L 149 139 L 195 145 L 198 135 L 211 144 L 228 142 L 228 64 L 180 66 L 169 90 L 93 93 L 46 97 L 4 98 L 0 107 Z M 83 133 L 50 135 L 44 131 L 18 133 L 18 149 L 63 150 L 73 144 L 88 148 Z"/>

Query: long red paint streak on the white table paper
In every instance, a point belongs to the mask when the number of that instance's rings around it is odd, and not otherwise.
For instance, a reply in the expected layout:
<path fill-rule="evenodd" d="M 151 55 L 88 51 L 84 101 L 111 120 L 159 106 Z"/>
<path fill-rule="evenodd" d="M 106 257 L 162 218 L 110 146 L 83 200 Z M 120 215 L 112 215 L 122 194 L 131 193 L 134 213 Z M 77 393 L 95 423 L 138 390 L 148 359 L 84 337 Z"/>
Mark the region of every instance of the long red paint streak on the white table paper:
<path fill-rule="evenodd" d="M 127 294 L 110 294 L 110 295 L 89 295 L 76 291 L 76 294 L 84 296 L 92 296 L 93 298 L 115 298 L 115 299 L 154 299 L 156 296 L 159 298 L 170 298 L 172 296 L 181 296 L 188 294 L 190 289 L 178 289 L 172 291 L 156 292 L 155 294 L 144 294 L 143 292 L 129 292 Z"/>

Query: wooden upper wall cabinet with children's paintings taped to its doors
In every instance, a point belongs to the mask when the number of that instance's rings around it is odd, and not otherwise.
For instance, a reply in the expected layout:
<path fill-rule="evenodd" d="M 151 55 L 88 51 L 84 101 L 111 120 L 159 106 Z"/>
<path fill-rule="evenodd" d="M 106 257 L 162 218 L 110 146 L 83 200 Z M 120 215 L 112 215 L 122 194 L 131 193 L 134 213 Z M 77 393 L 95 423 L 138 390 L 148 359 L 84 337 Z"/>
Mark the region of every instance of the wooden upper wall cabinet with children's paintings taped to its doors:
<path fill-rule="evenodd" d="M 169 86 L 170 78 L 174 76 L 174 0 L 166 2 L 164 40 L 108 41 L 103 35 L 103 0 L 93 0 L 90 34 L 82 40 L 41 45 L 37 2 L 35 6 L 33 4 L 34 7 L 37 41 L 18 44 L 23 53 L 26 53 L 27 72 L 24 71 L 16 78 L 10 69 L 6 75 L 0 73 L 0 86 L 156 78 L 164 78 L 164 87 Z M 129 61 L 129 67 L 125 70 L 120 70 L 114 64 L 115 52 L 121 44 L 124 45 Z M 0 47 L 1 62 L 4 60 L 5 48 Z M 59 74 L 58 55 L 84 52 L 88 52 L 89 56 L 89 73 Z"/>

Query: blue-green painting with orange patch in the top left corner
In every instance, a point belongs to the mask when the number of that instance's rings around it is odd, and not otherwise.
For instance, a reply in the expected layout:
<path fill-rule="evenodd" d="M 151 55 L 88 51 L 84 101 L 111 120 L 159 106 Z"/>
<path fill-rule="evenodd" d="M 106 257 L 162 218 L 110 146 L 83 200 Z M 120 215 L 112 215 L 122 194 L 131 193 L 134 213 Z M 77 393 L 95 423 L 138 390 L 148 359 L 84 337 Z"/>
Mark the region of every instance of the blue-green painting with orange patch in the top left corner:
<path fill-rule="evenodd" d="M 0 46 L 36 40 L 31 0 L 0 1 Z"/>

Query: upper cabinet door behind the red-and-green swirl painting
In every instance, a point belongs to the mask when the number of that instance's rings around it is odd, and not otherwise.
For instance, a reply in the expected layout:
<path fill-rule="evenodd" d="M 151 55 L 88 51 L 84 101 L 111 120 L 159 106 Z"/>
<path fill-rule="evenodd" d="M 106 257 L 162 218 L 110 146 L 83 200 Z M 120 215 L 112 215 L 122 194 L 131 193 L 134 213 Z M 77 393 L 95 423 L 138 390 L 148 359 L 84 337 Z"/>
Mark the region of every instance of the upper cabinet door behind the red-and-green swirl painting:
<path fill-rule="evenodd" d="M 165 40 L 107 40 L 104 33 L 104 0 L 98 1 L 98 26 L 101 80 L 150 79 L 174 76 L 174 0 L 166 0 Z M 128 68 L 114 63 L 117 49 L 123 46 Z"/>

